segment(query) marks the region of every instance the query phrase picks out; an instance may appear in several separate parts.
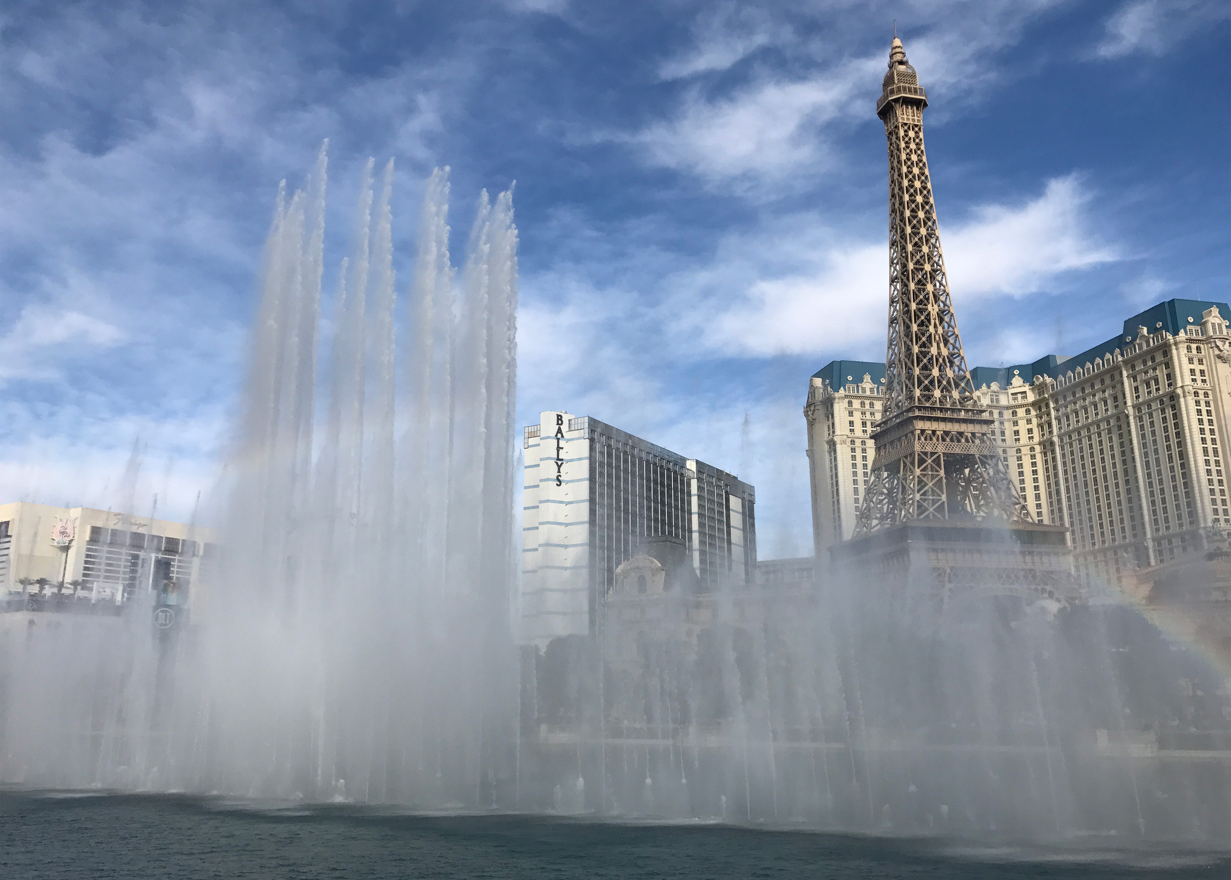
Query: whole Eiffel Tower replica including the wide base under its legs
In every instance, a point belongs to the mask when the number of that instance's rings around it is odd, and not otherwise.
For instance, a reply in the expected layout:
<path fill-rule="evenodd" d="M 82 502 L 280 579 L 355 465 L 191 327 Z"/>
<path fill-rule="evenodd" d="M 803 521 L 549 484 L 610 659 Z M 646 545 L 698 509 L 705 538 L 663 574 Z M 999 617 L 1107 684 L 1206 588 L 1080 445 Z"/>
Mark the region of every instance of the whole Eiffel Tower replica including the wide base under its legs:
<path fill-rule="evenodd" d="M 889 345 L 872 485 L 838 565 L 945 613 L 974 594 L 1075 598 L 1067 528 L 1033 522 L 974 398 L 944 272 L 927 92 L 896 37 L 876 116 L 889 140 Z"/>

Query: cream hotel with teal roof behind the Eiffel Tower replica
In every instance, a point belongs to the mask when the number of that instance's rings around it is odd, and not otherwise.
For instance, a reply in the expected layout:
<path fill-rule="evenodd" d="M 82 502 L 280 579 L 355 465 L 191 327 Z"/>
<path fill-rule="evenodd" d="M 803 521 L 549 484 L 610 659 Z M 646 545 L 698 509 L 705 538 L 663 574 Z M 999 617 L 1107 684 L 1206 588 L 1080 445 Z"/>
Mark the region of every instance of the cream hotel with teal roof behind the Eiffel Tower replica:
<path fill-rule="evenodd" d="M 975 367 L 976 399 L 1037 521 L 1070 527 L 1077 572 L 1124 575 L 1206 549 L 1231 530 L 1222 454 L 1231 416 L 1226 303 L 1171 299 L 1077 354 Z M 880 412 L 884 364 L 835 361 L 804 414 L 816 553 L 851 537 Z M 848 458 L 849 457 L 849 458 Z M 849 468 L 849 470 L 848 470 Z"/>

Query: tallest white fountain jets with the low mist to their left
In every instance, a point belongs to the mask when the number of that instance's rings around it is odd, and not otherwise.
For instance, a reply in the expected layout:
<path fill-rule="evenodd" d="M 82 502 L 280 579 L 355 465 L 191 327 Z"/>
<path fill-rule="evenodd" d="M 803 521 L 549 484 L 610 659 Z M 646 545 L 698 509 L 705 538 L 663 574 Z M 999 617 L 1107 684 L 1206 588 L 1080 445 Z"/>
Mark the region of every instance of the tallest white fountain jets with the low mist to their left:
<path fill-rule="evenodd" d="M 10 640 L 4 778 L 433 806 L 511 784 L 512 193 L 483 193 L 455 278 L 433 172 L 399 351 L 393 162 L 369 160 L 321 364 L 326 167 L 278 191 L 191 633 L 130 610 L 58 681 Z"/>

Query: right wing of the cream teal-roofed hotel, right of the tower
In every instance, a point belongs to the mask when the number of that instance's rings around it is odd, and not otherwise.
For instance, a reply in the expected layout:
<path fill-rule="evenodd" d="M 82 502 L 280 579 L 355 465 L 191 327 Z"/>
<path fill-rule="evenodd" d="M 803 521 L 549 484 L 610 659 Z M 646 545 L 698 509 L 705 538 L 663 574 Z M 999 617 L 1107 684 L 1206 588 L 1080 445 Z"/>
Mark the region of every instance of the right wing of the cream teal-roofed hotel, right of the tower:
<path fill-rule="evenodd" d="M 1209 529 L 1231 526 L 1219 304 L 1174 299 L 1134 320 L 1030 383 L 1043 391 L 1041 450 L 1078 571 L 1120 586 L 1125 572 L 1204 550 Z"/>

